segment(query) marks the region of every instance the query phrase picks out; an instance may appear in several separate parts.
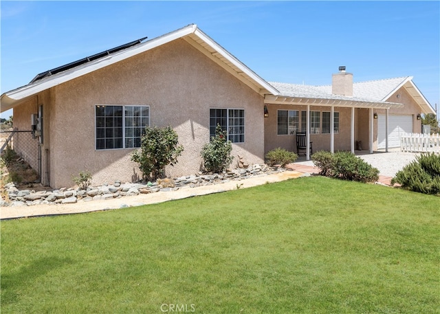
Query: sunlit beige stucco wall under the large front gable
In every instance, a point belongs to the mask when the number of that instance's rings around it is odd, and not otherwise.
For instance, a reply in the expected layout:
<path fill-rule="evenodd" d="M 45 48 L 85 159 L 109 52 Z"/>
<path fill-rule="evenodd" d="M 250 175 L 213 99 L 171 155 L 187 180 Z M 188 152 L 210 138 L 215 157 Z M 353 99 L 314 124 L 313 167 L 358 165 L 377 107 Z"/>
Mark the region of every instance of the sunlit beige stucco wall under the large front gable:
<path fill-rule="evenodd" d="M 43 155 L 50 157 L 54 188 L 72 186 L 72 175 L 81 170 L 92 173 L 94 184 L 140 176 L 130 160 L 133 149 L 95 149 L 96 104 L 148 105 L 151 126 L 173 126 L 184 153 L 166 169 L 170 177 L 200 170 L 210 108 L 245 109 L 245 143 L 234 144 L 233 154 L 250 164 L 263 162 L 263 98 L 183 39 L 65 82 L 50 94 L 41 101 L 50 128 Z"/>

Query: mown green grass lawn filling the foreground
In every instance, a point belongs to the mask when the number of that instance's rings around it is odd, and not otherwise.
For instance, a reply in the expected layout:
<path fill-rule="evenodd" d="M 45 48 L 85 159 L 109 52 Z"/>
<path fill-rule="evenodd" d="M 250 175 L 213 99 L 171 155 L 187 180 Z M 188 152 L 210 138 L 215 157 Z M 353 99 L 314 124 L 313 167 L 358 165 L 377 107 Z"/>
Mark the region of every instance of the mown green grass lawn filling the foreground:
<path fill-rule="evenodd" d="M 439 209 L 310 177 L 2 221 L 1 312 L 439 313 Z"/>

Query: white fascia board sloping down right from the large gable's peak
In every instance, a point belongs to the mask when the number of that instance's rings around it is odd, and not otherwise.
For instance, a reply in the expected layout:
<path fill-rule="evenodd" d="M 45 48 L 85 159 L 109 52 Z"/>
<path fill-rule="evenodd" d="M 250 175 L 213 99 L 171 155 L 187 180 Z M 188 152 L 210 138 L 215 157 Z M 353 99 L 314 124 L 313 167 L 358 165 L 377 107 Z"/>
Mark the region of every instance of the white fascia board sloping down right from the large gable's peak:
<path fill-rule="evenodd" d="M 244 74 L 248 75 L 252 80 L 257 82 L 259 85 L 261 85 L 263 88 L 267 89 L 270 93 L 273 95 L 278 95 L 280 92 L 276 90 L 272 85 L 270 85 L 268 82 L 263 80 L 260 76 L 258 76 L 254 71 L 252 71 L 249 67 L 241 63 L 237 58 L 232 56 L 228 51 L 226 51 L 221 45 L 217 44 L 215 41 L 213 41 L 208 35 L 201 32 L 199 28 L 197 28 L 194 32 L 196 36 L 198 36 L 202 41 L 204 41 L 207 45 L 212 47 L 215 51 L 219 52 L 224 58 L 226 58 L 230 63 L 241 69 Z"/>

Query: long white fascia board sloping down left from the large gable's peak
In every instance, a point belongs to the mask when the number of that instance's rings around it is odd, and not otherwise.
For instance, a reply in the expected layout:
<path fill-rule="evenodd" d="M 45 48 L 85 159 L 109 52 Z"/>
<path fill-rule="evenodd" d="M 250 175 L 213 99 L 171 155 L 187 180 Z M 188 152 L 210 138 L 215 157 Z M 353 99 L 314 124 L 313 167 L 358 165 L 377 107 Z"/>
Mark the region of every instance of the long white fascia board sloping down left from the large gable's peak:
<path fill-rule="evenodd" d="M 103 67 L 107 67 L 108 65 L 112 65 L 113 63 L 118 63 L 119 61 L 130 58 L 131 56 L 135 56 L 136 54 L 141 54 L 142 52 L 146 52 L 149 49 L 153 49 L 160 45 L 164 45 L 165 43 L 169 43 L 170 41 L 174 41 L 177 38 L 181 38 L 183 36 L 191 34 L 196 29 L 197 25 L 188 25 L 187 27 L 181 28 L 180 30 L 177 30 L 175 32 L 170 32 L 163 36 L 153 38 L 151 41 L 147 41 L 146 43 L 133 47 L 132 49 L 127 49 L 126 51 L 120 52 L 118 54 L 113 54 L 105 58 L 100 58 L 98 60 L 92 61 L 91 63 L 85 63 L 84 65 L 80 65 L 79 67 L 74 67 L 73 69 L 60 72 L 59 74 L 50 76 L 49 78 L 46 78 L 41 82 L 37 81 L 30 85 L 25 85 L 23 87 L 19 87 L 18 89 L 8 91 L 6 93 L 3 93 L 3 95 L 1 96 L 1 102 L 3 103 L 4 96 L 7 96 L 12 101 L 22 100 L 23 98 L 35 95 L 40 91 L 50 89 L 51 87 L 62 84 L 63 82 L 67 82 L 68 80 L 72 80 L 85 74 L 89 74 L 92 71 L 102 69 Z M 8 106 L 8 104 L 6 105 Z M 1 110 L 3 111 L 3 108 Z"/>

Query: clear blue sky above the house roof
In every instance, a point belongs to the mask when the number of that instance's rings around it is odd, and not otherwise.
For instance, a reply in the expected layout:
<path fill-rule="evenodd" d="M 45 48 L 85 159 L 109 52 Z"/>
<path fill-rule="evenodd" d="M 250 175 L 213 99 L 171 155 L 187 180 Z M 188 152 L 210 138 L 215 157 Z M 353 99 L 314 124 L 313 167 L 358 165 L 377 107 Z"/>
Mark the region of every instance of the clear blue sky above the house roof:
<path fill-rule="evenodd" d="M 1 93 L 190 23 L 267 81 L 413 76 L 440 103 L 439 1 L 1 1 Z M 11 112 L 2 113 L 8 117 Z"/>

